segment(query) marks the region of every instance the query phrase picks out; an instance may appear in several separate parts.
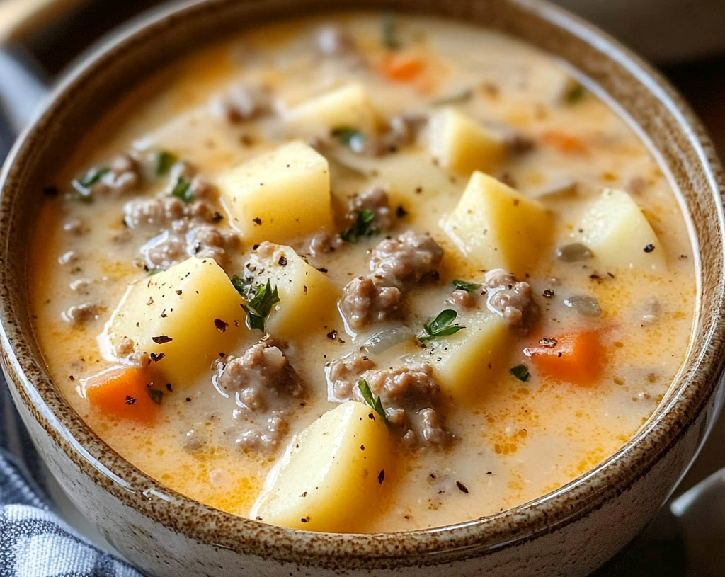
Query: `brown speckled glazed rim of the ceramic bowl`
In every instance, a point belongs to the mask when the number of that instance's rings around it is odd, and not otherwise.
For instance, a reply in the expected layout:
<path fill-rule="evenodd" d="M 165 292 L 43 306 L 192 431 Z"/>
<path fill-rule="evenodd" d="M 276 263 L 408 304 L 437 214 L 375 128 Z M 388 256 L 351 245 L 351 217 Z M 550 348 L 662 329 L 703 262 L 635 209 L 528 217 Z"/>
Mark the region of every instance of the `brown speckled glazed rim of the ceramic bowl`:
<path fill-rule="evenodd" d="M 340 6 L 334 0 L 312 1 L 316 11 L 347 7 Z M 716 312 L 711 312 L 706 319 L 700 318 L 703 310 L 702 282 L 698 289 L 700 296 L 697 304 L 697 328 L 701 344 L 697 347 L 690 346 L 687 366 L 682 368 L 675 381 L 677 386 L 671 387 L 654 415 L 633 439 L 595 469 L 566 486 L 525 505 L 479 520 L 399 534 L 316 534 L 268 526 L 212 509 L 168 489 L 125 462 L 85 426 L 59 394 L 42 359 L 34 352 L 36 344 L 33 334 L 23 326 L 24 322 L 27 325 L 28 319 L 24 320 L 12 307 L 14 302 L 21 302 L 14 299 L 20 298 L 23 288 L 14 286 L 16 283 L 13 279 L 25 278 L 25 273 L 18 270 L 20 265 L 16 262 L 17 259 L 13 260 L 8 250 L 12 234 L 18 233 L 14 221 L 14 196 L 22 194 L 22 191 L 17 181 L 20 180 L 23 165 L 33 154 L 33 145 L 38 144 L 46 131 L 51 132 L 49 127 L 53 124 L 54 114 L 63 107 L 71 106 L 69 102 L 74 94 L 82 92 L 83 86 L 90 82 L 94 73 L 101 71 L 101 67 L 122 58 L 125 51 L 133 50 L 134 46 L 148 41 L 152 35 L 164 34 L 178 22 L 202 17 L 207 11 L 224 9 L 231 4 L 233 0 L 210 0 L 192 1 L 181 7 L 171 7 L 142 20 L 111 43 L 101 46 L 54 90 L 49 103 L 14 146 L 4 166 L 0 179 L 0 243 L 3 247 L 0 254 L 2 362 L 22 402 L 54 442 L 62 447 L 80 470 L 91 476 L 109 494 L 166 528 L 186 534 L 201 543 L 246 555 L 258 555 L 310 567 L 333 567 L 337 570 L 435 565 L 512 547 L 589 515 L 604 502 L 626 491 L 639 477 L 653 468 L 660 457 L 682 438 L 708 403 L 712 404 L 713 392 L 716 391 L 723 370 L 725 323 L 722 315 Z M 252 0 L 247 4 L 253 9 L 254 5 L 264 4 L 264 1 Z M 302 12 L 303 5 L 307 7 L 311 2 L 291 0 L 289 4 L 294 4 Z M 392 7 L 405 11 L 405 0 L 373 0 L 367 4 L 360 1 L 358 7 L 363 4 L 368 9 Z M 423 0 L 417 4 L 410 4 L 409 1 L 408 4 L 414 5 L 417 12 L 439 15 L 446 12 L 444 17 L 465 17 L 465 9 L 442 8 L 436 6 L 435 0 Z M 635 79 L 647 86 L 650 94 L 663 104 L 684 133 L 689 135 L 689 145 L 694 149 L 708 188 L 705 190 L 703 185 L 700 193 L 713 196 L 716 212 L 713 218 L 716 219 L 717 230 L 708 237 L 708 242 L 713 243 L 715 248 L 712 250 L 718 257 L 708 265 L 709 269 L 706 271 L 711 277 L 711 288 L 707 294 L 708 303 L 712 305 L 709 310 L 723 310 L 725 290 L 721 261 L 725 228 L 718 190 L 725 190 L 725 179 L 711 141 L 687 104 L 658 72 L 639 57 L 563 9 L 537 0 L 460 2 L 462 7 L 479 4 L 508 4 L 521 12 L 534 14 L 534 17 L 546 20 L 564 34 L 579 38 L 597 51 L 605 53 L 608 59 L 624 67 Z M 459 13 L 461 11 L 463 13 Z M 692 215 L 690 218 L 692 219 Z M 697 246 L 695 251 L 697 252 Z M 701 272 L 700 277 L 703 274 Z M 180 507 L 183 515 L 180 514 Z M 193 515 L 189 512 L 193 512 Z M 314 551 L 314 555 L 309 555 L 310 551 Z"/>

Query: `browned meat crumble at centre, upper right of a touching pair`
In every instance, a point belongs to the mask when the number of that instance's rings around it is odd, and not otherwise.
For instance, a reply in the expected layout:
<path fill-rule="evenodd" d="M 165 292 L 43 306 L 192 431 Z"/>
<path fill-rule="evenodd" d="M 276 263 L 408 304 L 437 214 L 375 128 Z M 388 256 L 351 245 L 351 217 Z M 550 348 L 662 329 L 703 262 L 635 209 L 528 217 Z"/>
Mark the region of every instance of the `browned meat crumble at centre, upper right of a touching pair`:
<path fill-rule="evenodd" d="M 434 275 L 442 258 L 443 249 L 430 235 L 407 231 L 373 249 L 370 270 L 382 284 L 403 288 Z"/>

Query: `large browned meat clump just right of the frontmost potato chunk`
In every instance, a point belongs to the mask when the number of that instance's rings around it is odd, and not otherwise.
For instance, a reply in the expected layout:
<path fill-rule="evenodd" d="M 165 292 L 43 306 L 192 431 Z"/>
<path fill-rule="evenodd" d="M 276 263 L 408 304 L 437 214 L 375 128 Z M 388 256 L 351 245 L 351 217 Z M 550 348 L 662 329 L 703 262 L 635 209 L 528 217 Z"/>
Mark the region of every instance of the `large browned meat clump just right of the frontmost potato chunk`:
<path fill-rule="evenodd" d="M 389 423 L 400 428 L 406 443 L 441 446 L 449 441 L 450 433 L 432 408 L 439 388 L 430 365 L 373 369 L 363 373 L 362 378 L 368 381 L 373 396 L 380 396 Z M 358 386 L 353 387 L 352 397 L 365 402 Z"/>

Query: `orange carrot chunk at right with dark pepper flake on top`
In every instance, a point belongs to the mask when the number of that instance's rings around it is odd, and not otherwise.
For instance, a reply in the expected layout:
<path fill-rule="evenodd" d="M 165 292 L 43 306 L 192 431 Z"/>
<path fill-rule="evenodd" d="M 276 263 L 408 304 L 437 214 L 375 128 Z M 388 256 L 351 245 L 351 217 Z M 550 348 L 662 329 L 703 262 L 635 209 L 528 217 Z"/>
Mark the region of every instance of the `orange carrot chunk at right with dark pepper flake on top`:
<path fill-rule="evenodd" d="M 541 344 L 544 341 L 549 341 L 548 346 Z M 539 346 L 526 347 L 523 352 L 542 373 L 579 386 L 597 382 L 604 361 L 598 331 L 566 333 L 539 343 Z"/>

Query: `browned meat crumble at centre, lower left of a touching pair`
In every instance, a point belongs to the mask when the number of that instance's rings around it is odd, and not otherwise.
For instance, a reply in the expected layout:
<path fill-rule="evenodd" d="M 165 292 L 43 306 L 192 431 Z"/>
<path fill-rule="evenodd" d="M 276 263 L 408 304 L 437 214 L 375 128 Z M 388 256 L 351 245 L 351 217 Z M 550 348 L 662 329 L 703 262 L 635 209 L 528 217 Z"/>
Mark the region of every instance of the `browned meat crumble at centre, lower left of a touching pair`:
<path fill-rule="evenodd" d="M 347 283 L 340 312 L 349 328 L 360 331 L 368 323 L 402 316 L 403 295 L 394 286 L 379 286 L 373 278 L 360 276 Z"/>

